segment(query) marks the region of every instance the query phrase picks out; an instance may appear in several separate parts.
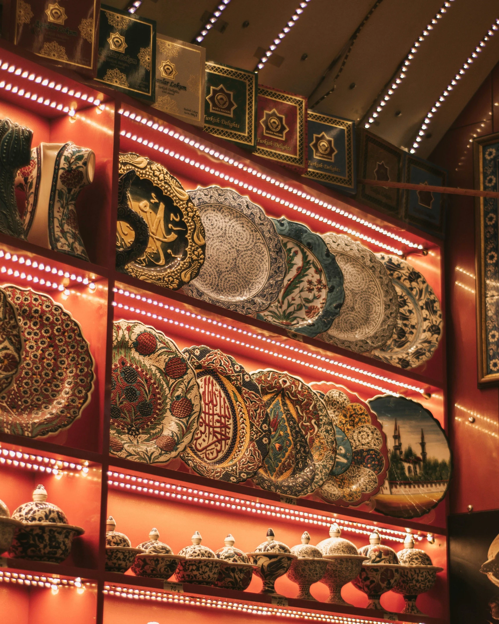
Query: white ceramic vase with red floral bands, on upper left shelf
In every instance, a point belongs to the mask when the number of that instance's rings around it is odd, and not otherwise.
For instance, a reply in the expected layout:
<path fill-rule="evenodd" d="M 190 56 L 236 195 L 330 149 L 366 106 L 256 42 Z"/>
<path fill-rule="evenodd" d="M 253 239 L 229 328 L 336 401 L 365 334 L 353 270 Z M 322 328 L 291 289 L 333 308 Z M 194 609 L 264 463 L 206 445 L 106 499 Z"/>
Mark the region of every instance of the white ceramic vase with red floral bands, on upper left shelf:
<path fill-rule="evenodd" d="M 89 260 L 75 203 L 94 174 L 95 154 L 86 147 L 41 143 L 31 150 L 31 163 L 16 176 L 16 188 L 24 193 L 22 222 L 30 243 Z"/>

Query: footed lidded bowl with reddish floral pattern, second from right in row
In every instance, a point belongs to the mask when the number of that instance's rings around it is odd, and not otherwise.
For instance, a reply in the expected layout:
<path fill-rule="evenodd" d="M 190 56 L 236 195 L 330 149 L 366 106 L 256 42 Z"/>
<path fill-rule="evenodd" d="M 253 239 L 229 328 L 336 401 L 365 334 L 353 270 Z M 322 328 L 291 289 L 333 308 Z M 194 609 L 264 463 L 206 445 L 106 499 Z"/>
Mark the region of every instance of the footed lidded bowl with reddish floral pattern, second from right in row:
<path fill-rule="evenodd" d="M 400 578 L 397 553 L 380 542 L 379 535 L 374 532 L 369 537 L 369 546 L 359 548 L 359 555 L 364 555 L 366 560 L 362 563 L 359 576 L 352 581 L 357 589 L 367 594 L 368 609 L 381 610 L 381 595 L 392 590 Z"/>

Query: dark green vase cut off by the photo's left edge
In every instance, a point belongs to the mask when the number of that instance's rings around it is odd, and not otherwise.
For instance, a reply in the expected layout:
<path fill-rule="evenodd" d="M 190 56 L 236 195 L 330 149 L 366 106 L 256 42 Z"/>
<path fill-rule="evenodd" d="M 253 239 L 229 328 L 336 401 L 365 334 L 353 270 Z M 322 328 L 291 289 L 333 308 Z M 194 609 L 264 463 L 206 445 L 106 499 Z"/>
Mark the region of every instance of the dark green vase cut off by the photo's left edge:
<path fill-rule="evenodd" d="M 26 240 L 14 184 L 19 167 L 29 165 L 31 139 L 29 128 L 14 124 L 10 119 L 0 120 L 0 232 Z"/>

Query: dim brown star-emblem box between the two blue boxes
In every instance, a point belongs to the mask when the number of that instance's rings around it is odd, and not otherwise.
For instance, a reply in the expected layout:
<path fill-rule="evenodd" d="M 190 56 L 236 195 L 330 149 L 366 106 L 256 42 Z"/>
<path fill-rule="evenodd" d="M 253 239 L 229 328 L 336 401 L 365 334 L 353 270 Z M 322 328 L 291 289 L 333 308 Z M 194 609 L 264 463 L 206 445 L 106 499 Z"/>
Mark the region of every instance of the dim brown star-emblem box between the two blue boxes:
<path fill-rule="evenodd" d="M 404 150 L 364 129 L 357 132 L 356 142 L 359 162 L 357 177 L 359 180 L 402 182 L 404 179 Z M 404 190 L 401 188 L 359 184 L 356 199 L 392 217 L 399 219 L 403 217 Z"/>

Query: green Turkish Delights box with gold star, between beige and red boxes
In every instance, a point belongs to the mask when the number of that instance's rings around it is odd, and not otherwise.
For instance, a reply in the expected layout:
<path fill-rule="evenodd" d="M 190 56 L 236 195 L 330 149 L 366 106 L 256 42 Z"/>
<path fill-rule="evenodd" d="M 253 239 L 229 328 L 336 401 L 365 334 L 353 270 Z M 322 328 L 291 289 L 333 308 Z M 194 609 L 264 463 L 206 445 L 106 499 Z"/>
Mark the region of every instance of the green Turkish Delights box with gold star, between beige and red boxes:
<path fill-rule="evenodd" d="M 205 131 L 253 150 L 258 75 L 206 63 Z"/>

